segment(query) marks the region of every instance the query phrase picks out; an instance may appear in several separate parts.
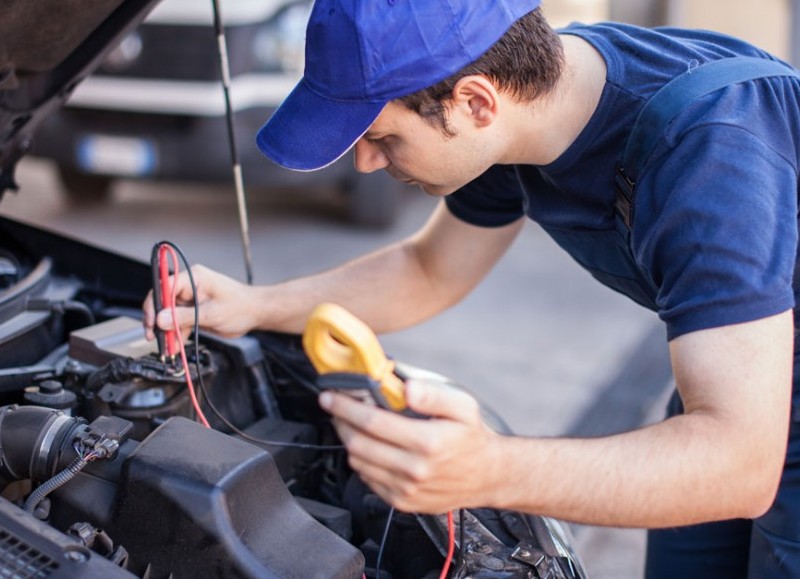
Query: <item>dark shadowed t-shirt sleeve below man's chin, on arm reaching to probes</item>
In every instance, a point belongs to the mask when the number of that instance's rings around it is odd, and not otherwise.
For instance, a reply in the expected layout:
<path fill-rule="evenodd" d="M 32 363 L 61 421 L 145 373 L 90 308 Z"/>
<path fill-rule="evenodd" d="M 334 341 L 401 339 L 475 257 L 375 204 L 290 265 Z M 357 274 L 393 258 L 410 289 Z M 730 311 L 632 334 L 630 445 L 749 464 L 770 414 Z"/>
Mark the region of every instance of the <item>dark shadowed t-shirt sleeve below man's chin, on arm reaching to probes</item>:
<path fill-rule="evenodd" d="M 525 199 L 516 171 L 494 165 L 483 175 L 445 198 L 450 212 L 472 225 L 500 227 L 525 214 Z"/>

